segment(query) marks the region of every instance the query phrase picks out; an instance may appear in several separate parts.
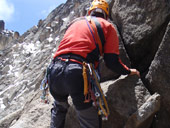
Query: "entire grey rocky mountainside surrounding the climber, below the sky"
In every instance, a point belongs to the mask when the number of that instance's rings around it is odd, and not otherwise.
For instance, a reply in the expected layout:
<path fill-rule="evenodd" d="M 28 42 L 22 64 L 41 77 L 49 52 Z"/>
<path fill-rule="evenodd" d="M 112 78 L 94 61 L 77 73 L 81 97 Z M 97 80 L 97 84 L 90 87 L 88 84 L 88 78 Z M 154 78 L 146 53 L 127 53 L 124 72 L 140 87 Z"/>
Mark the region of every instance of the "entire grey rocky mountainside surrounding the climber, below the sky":
<path fill-rule="evenodd" d="M 110 21 L 119 34 L 120 57 L 140 70 L 141 79 L 119 77 L 101 60 L 101 85 L 111 111 L 103 128 L 169 128 L 170 1 L 108 2 Z M 0 128 L 49 127 L 53 99 L 41 102 L 39 86 L 67 24 L 86 15 L 89 5 L 88 0 L 68 0 L 21 36 L 1 30 Z M 73 108 L 66 128 L 79 128 Z"/>

